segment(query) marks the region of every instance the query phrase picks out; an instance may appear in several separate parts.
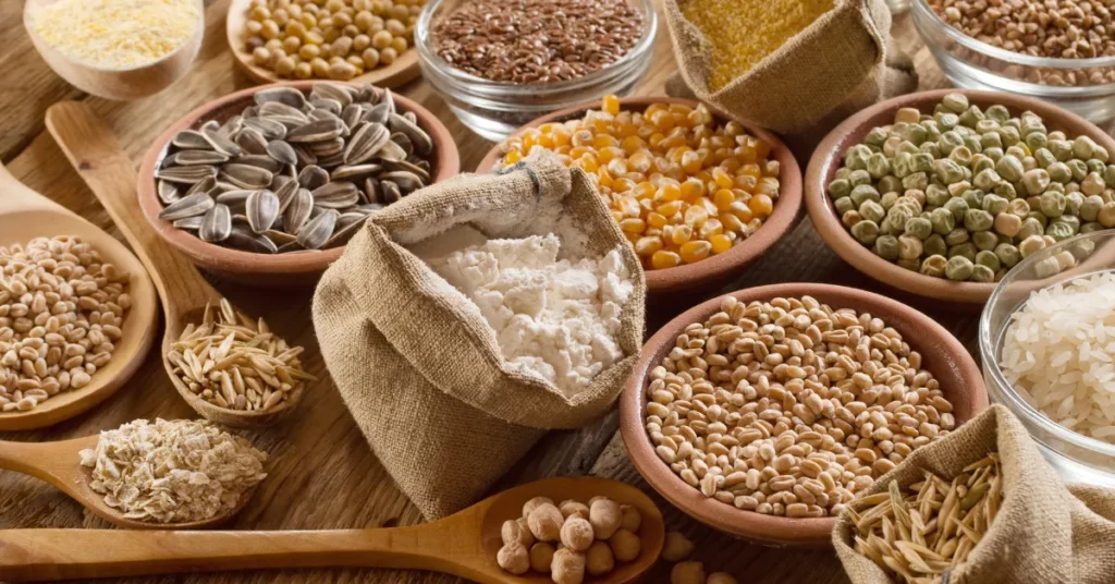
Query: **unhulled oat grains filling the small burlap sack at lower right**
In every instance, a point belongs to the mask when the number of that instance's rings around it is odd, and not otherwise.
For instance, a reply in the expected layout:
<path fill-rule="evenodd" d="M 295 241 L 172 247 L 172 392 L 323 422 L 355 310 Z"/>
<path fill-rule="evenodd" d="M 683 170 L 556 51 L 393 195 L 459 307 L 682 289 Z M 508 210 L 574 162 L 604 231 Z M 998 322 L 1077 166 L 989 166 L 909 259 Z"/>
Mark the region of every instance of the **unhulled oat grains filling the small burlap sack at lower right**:
<path fill-rule="evenodd" d="M 905 489 L 852 501 L 855 551 L 905 584 L 937 584 L 962 564 L 1002 504 L 1002 468 L 991 453 L 951 481 L 925 471 Z"/>

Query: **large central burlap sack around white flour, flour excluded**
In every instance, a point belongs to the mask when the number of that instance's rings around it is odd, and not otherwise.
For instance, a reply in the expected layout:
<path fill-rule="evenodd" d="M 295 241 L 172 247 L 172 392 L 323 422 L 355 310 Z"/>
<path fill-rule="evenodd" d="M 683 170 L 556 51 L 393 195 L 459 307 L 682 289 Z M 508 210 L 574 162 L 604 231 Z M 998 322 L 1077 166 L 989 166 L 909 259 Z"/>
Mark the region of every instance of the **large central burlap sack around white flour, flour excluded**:
<path fill-rule="evenodd" d="M 511 170 L 464 174 L 376 213 L 313 297 L 321 353 L 345 403 L 429 519 L 474 502 L 546 430 L 603 414 L 642 344 L 642 268 L 588 175 L 549 153 Z M 508 371 L 476 306 L 408 249 L 456 226 L 487 238 L 553 232 L 569 258 L 619 247 L 634 281 L 618 338 L 628 356 L 572 398 Z"/>

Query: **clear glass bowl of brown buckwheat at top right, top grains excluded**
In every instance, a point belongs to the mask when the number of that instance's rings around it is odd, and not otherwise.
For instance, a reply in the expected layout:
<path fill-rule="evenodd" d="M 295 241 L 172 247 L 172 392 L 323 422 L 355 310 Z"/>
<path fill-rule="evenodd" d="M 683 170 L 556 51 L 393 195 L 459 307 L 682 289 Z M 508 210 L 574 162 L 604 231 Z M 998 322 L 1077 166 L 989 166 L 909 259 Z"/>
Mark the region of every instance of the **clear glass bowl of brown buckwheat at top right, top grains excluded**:
<path fill-rule="evenodd" d="M 1115 117 L 1115 57 L 1054 59 L 1012 52 L 952 28 L 913 0 L 913 23 L 941 71 L 958 87 L 992 89 L 1057 104 L 1092 122 Z"/>

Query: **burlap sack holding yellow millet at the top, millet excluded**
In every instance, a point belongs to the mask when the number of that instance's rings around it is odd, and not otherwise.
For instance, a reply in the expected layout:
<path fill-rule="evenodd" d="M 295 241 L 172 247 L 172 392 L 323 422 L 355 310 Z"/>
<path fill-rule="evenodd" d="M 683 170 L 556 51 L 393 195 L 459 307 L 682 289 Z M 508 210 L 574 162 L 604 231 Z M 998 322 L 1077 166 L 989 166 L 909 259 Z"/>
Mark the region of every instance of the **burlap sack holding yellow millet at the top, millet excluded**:
<path fill-rule="evenodd" d="M 679 76 L 667 93 L 695 96 L 733 116 L 816 142 L 867 105 L 918 88 L 913 63 L 892 42 L 884 0 L 836 0 L 805 30 L 728 85 L 710 90 L 711 45 L 666 0 Z M 762 26 L 757 23 L 756 26 Z M 680 82 L 680 83 L 679 83 Z"/>

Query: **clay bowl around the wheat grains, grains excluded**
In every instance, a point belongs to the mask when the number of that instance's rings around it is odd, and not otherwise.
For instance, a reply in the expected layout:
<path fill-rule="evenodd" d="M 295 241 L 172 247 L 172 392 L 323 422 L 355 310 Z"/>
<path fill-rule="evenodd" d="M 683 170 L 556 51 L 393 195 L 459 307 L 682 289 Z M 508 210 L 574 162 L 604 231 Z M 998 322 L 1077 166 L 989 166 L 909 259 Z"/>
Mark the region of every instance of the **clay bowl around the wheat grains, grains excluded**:
<path fill-rule="evenodd" d="M 743 303 L 776 297 L 812 296 L 834 309 L 870 313 L 894 327 L 922 355 L 922 366 L 940 382 L 952 402 L 957 423 L 975 418 L 988 406 L 979 366 L 964 346 L 941 325 L 899 301 L 869 291 L 827 284 L 776 284 L 731 293 Z M 643 425 L 647 410 L 647 375 L 659 365 L 675 339 L 692 323 L 719 312 L 714 298 L 681 314 L 663 326 L 643 346 L 642 355 L 620 398 L 620 433 L 636 469 L 650 486 L 687 515 L 724 533 L 773 546 L 827 547 L 835 517 L 791 519 L 775 517 L 710 499 L 670 470 L 658 454 Z"/>

